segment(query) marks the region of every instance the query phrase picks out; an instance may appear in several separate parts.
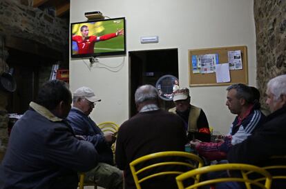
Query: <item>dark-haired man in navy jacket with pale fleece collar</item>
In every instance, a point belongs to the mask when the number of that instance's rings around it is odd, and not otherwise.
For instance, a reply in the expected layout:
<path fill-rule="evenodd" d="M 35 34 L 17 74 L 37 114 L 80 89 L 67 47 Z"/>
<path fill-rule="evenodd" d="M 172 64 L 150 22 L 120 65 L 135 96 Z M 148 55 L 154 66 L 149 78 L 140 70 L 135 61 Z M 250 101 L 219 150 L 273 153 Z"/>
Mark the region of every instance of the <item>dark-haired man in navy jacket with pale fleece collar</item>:
<path fill-rule="evenodd" d="M 12 128 L 1 162 L 0 188 L 77 188 L 77 172 L 97 164 L 92 144 L 64 120 L 72 97 L 64 81 L 48 81 Z"/>

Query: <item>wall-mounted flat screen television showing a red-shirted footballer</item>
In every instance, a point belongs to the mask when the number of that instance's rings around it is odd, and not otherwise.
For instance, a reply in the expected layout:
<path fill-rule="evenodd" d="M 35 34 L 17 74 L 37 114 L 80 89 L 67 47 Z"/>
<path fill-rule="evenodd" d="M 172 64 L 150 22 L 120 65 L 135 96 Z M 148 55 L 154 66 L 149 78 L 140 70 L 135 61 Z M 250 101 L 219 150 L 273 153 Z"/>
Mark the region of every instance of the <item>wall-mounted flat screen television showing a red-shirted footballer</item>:
<path fill-rule="evenodd" d="M 126 54 L 125 18 L 70 23 L 72 58 Z"/>

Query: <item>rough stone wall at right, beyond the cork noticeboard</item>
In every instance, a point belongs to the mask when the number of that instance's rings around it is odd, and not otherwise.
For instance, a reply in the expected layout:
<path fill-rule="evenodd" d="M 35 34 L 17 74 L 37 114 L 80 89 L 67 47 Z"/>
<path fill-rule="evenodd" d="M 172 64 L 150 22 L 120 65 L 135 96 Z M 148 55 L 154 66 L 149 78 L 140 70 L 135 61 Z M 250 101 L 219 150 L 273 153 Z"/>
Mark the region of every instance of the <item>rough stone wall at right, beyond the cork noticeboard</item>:
<path fill-rule="evenodd" d="M 257 83 L 266 108 L 269 79 L 286 74 L 286 1 L 254 0 Z"/>

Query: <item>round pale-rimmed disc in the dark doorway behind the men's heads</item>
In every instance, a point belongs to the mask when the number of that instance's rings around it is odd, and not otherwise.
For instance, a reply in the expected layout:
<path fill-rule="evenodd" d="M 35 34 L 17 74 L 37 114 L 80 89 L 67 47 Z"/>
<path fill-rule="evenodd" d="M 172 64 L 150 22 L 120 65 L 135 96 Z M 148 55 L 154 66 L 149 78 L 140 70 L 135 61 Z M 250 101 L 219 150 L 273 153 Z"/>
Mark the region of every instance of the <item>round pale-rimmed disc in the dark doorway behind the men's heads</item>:
<path fill-rule="evenodd" d="M 165 101 L 173 100 L 173 90 L 178 87 L 178 78 L 171 74 L 166 74 L 160 77 L 155 86 L 159 92 L 159 97 Z"/>

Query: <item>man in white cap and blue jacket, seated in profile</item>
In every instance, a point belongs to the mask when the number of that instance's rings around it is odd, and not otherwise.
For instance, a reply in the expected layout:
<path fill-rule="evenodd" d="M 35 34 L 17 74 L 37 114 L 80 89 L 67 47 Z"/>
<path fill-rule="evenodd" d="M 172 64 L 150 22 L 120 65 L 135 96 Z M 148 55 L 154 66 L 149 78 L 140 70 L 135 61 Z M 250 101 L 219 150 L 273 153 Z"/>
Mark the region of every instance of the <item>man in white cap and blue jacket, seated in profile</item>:
<path fill-rule="evenodd" d="M 95 103 L 99 101 L 101 99 L 97 98 L 90 88 L 78 88 L 73 92 L 73 108 L 67 119 L 75 135 L 82 136 L 86 141 L 93 143 L 99 154 L 98 165 L 86 172 L 85 181 L 95 182 L 98 186 L 107 189 L 122 188 L 122 171 L 113 166 L 111 144 L 115 142 L 115 137 L 111 134 L 104 135 L 88 116 L 95 108 Z"/>

